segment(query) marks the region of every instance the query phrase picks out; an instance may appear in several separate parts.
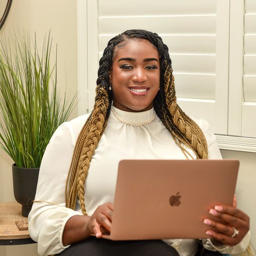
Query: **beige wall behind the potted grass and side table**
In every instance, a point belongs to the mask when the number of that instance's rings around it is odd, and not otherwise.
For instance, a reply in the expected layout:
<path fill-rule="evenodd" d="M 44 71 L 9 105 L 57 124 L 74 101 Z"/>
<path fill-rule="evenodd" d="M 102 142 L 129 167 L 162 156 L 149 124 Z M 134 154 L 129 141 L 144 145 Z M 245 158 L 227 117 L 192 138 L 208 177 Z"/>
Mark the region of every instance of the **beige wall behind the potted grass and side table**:
<path fill-rule="evenodd" d="M 21 32 L 25 29 L 34 35 L 37 42 L 51 29 L 53 37 L 52 57 L 58 43 L 57 84 L 63 95 L 74 95 L 77 91 L 77 8 L 75 0 L 13 0 L 3 29 Z M 77 106 L 70 119 L 77 116 Z M 12 160 L 0 150 L 0 201 L 15 201 L 12 187 Z M 37 244 L 0 246 L 1 256 L 37 256 Z"/>

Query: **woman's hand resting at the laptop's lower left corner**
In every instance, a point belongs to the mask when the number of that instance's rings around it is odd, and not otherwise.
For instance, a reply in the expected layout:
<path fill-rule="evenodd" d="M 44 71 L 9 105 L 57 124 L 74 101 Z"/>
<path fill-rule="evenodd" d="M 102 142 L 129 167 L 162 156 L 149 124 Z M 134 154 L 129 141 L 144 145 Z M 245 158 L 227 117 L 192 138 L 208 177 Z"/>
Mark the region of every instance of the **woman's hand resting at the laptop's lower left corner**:
<path fill-rule="evenodd" d="M 97 238 L 100 238 L 102 233 L 111 231 L 113 206 L 112 203 L 106 203 L 97 207 L 87 222 L 89 233 L 95 234 Z"/>

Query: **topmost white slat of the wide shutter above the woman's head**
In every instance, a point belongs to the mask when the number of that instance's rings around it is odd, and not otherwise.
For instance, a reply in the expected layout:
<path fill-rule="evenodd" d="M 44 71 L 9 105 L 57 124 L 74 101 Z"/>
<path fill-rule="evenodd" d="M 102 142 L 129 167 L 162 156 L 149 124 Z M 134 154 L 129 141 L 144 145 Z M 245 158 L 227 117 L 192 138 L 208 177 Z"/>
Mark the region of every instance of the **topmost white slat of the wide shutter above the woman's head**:
<path fill-rule="evenodd" d="M 186 6 L 186 8 L 185 8 Z M 99 16 L 215 14 L 216 0 L 99 0 Z"/>

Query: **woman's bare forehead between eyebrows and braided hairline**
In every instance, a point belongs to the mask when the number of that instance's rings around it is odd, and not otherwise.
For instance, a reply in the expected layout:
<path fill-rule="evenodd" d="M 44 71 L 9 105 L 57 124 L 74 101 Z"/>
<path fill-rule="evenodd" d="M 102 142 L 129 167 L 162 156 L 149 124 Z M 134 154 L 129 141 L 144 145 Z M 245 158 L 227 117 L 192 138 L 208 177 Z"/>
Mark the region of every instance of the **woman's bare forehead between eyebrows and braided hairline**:
<path fill-rule="evenodd" d="M 129 39 L 125 44 L 121 42 L 120 45 L 121 47 L 115 47 L 114 61 L 119 58 L 159 59 L 159 53 L 156 47 L 145 39 Z"/>

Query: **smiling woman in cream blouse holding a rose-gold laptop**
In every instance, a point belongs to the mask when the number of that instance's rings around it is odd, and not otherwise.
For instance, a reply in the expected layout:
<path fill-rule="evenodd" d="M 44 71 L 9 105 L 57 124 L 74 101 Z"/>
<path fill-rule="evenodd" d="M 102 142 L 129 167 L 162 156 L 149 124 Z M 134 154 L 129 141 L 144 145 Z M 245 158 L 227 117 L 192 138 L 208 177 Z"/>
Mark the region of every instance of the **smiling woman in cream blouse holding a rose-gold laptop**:
<path fill-rule="evenodd" d="M 169 245 L 180 255 L 197 253 L 196 239 L 100 238 L 111 230 L 117 165 L 124 158 L 221 158 L 207 122 L 189 118 L 177 105 L 168 47 L 145 30 L 128 30 L 108 42 L 92 113 L 61 125 L 47 146 L 29 214 L 40 255 L 176 254 Z M 236 208 L 236 200 L 233 207 L 215 206 L 210 213 L 215 221 L 204 220 L 211 239 L 203 239 L 203 246 L 221 253 L 244 251 L 249 217 Z M 114 254 L 113 248 L 120 251 Z M 150 254 L 152 248 L 157 253 Z"/>

